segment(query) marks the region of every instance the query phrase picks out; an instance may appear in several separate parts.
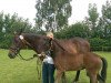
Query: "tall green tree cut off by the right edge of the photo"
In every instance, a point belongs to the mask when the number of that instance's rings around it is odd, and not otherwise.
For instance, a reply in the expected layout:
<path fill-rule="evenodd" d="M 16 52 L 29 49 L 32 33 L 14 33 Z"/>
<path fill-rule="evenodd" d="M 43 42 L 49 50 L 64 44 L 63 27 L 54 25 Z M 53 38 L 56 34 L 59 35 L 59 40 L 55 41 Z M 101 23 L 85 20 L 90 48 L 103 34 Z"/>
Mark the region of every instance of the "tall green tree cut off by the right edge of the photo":
<path fill-rule="evenodd" d="M 100 18 L 100 24 L 103 30 L 103 38 L 111 38 L 111 3 L 107 1 L 105 4 L 102 6 L 102 17 Z"/>

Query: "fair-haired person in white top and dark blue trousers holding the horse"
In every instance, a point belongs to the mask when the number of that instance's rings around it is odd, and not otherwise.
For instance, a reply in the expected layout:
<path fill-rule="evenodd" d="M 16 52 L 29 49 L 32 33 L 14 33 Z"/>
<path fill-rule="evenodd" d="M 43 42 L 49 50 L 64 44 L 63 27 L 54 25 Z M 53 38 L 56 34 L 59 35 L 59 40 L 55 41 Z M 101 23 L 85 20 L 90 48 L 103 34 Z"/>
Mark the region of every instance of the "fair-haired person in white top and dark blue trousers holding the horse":
<path fill-rule="evenodd" d="M 47 37 L 53 39 L 52 32 L 47 32 Z M 54 63 L 51 58 L 51 51 L 46 53 L 46 58 L 42 63 L 42 83 L 54 83 Z"/>

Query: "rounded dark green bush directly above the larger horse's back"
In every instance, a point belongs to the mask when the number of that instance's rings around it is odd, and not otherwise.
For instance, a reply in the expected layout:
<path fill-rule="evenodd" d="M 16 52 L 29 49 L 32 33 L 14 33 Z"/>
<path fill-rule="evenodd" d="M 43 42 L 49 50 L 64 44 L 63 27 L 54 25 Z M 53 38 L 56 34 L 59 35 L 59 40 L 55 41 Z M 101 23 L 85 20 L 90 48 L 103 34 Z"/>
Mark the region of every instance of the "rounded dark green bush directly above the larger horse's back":
<path fill-rule="evenodd" d="M 75 23 L 70 25 L 69 28 L 64 28 L 60 32 L 56 33 L 57 38 L 61 39 L 70 39 L 73 37 L 81 37 L 81 38 L 87 38 L 89 35 L 89 29 L 88 25 L 84 23 Z"/>

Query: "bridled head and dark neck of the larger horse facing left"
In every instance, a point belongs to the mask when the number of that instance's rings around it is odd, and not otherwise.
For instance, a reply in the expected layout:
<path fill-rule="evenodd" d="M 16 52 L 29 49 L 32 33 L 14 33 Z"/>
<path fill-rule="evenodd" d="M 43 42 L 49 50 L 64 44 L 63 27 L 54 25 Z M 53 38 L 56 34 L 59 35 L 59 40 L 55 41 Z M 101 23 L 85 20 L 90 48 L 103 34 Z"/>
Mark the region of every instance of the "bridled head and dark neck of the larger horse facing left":
<path fill-rule="evenodd" d="M 16 34 L 12 45 L 9 49 L 9 58 L 14 59 L 19 51 L 26 45 L 30 46 L 38 54 L 41 54 L 50 49 L 51 39 L 46 35 L 37 35 L 32 33 Z"/>

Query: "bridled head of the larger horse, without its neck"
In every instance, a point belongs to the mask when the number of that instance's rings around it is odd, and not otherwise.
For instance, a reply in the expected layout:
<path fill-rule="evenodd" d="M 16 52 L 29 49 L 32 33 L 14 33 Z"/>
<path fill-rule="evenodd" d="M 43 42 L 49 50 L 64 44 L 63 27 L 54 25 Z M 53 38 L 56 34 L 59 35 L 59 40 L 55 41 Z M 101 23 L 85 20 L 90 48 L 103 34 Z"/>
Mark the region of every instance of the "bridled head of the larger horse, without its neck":
<path fill-rule="evenodd" d="M 20 38 L 20 34 L 16 34 L 13 37 L 13 42 L 9 49 L 9 58 L 14 59 L 16 55 L 19 53 L 19 51 L 24 46 L 24 43 L 22 42 L 22 38 Z"/>

